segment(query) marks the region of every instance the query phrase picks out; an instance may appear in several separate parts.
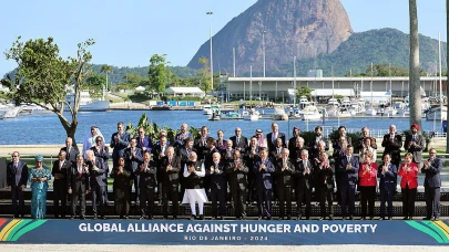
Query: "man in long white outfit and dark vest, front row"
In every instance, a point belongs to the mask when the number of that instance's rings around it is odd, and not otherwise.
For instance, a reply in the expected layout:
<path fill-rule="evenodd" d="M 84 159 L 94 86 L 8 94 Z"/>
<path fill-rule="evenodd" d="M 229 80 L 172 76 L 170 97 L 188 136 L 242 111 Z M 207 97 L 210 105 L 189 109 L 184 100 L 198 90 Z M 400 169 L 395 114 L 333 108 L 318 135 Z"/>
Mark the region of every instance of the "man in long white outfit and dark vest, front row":
<path fill-rule="evenodd" d="M 197 160 L 196 153 L 192 151 L 188 156 L 188 161 L 184 166 L 185 192 L 182 202 L 191 204 L 191 220 L 196 218 L 195 202 L 198 203 L 200 219 L 204 220 L 203 207 L 204 202 L 207 201 L 203 182 L 205 175 L 204 162 Z"/>

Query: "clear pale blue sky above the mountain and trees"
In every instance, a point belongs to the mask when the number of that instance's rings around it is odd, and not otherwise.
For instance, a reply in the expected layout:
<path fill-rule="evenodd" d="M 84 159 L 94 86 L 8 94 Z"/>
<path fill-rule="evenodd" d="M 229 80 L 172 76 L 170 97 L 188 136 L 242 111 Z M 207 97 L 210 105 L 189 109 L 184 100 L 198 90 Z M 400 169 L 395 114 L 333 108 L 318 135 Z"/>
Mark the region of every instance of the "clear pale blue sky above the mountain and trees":
<path fill-rule="evenodd" d="M 274 1 L 274 0 L 273 0 Z M 14 0 L 2 2 L 0 52 L 22 41 L 53 36 L 61 55 L 94 39 L 92 63 L 144 66 L 153 54 L 186 65 L 200 46 L 257 0 Z M 419 32 L 446 41 L 446 1 L 417 0 Z M 355 32 L 395 28 L 409 32 L 407 0 L 341 0 Z M 206 15 L 212 11 L 213 15 Z M 17 66 L 0 55 L 0 76 Z"/>

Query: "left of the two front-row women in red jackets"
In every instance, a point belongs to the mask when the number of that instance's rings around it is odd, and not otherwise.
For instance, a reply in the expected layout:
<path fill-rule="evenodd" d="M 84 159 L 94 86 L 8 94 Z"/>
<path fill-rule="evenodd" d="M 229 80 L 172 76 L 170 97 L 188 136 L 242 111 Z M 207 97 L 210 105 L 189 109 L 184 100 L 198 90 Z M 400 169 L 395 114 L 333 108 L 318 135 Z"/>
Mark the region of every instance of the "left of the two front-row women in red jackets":
<path fill-rule="evenodd" d="M 376 200 L 376 186 L 377 186 L 377 164 L 374 162 L 374 154 L 368 151 L 364 155 L 365 162 L 358 169 L 359 189 L 360 189 L 360 203 L 361 203 L 361 219 L 366 219 L 366 204 L 368 201 L 369 219 L 374 219 L 374 206 Z"/>

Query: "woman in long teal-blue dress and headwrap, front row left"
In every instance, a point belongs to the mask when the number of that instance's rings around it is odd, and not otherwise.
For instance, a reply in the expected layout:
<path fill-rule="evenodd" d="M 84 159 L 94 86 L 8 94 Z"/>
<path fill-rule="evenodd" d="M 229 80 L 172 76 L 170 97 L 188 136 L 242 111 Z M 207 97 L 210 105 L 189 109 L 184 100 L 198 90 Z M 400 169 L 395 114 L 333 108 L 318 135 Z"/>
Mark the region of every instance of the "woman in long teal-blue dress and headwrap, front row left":
<path fill-rule="evenodd" d="M 31 218 L 43 219 L 47 211 L 48 180 L 51 179 L 51 171 L 43 166 L 43 157 L 35 157 L 35 167 L 31 169 L 29 180 L 31 182 Z"/>

